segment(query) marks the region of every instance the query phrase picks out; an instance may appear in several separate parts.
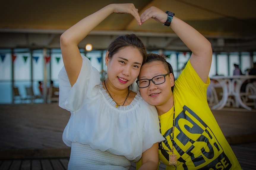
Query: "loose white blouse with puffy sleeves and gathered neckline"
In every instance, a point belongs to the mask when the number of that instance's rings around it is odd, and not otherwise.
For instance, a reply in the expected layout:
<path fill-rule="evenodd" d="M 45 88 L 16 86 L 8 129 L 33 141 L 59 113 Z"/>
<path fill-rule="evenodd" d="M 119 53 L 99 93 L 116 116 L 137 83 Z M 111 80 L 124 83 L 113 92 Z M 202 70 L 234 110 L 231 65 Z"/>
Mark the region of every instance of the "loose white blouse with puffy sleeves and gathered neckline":
<path fill-rule="evenodd" d="M 96 68 L 82 56 L 83 64 L 71 87 L 63 67 L 59 72 L 59 106 L 71 116 L 63 132 L 64 143 L 90 145 L 92 149 L 125 156 L 138 161 L 154 143 L 164 140 L 154 106 L 138 93 L 128 106 L 119 106 L 110 98 Z"/>

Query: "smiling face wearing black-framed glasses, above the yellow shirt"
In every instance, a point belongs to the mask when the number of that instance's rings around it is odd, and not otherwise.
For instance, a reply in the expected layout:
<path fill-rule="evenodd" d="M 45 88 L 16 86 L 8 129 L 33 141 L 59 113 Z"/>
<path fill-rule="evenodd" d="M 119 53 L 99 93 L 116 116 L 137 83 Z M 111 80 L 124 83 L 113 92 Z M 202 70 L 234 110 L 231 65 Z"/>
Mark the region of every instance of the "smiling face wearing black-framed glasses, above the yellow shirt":
<path fill-rule="evenodd" d="M 152 79 L 157 75 L 165 75 L 168 71 L 161 61 L 152 61 L 144 64 L 140 69 L 138 80 Z M 173 74 L 165 76 L 165 82 L 155 85 L 152 81 L 146 88 L 140 88 L 142 98 L 149 104 L 158 107 L 169 107 L 173 103 L 173 93 L 171 87 L 174 85 Z M 172 103 L 171 103 L 172 102 Z"/>

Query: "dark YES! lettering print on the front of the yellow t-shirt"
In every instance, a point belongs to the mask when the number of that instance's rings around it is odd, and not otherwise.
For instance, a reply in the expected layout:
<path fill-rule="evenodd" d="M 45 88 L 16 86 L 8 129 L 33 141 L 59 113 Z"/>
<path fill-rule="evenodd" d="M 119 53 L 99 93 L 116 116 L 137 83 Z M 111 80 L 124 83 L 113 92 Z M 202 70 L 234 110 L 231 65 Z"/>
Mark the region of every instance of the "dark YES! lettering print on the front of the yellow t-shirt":
<path fill-rule="evenodd" d="M 167 123 L 164 123 L 167 124 Z M 165 149 L 171 150 L 172 146 L 172 124 L 164 133 L 168 140 L 162 142 Z M 163 125 L 161 123 L 161 125 Z M 215 123 L 208 121 L 206 124 L 195 112 L 187 106 L 175 118 L 174 130 L 174 152 L 177 154 L 177 166 L 187 169 L 221 169 L 228 170 L 232 164 L 224 153 L 222 146 L 217 140 L 218 135 L 213 133 L 210 127 Z M 165 128 L 166 129 L 166 128 Z M 164 158 L 169 162 L 169 154 L 165 150 L 160 150 L 161 160 Z M 163 158 L 164 157 L 164 158 Z M 164 160 L 165 160 L 164 159 Z"/>

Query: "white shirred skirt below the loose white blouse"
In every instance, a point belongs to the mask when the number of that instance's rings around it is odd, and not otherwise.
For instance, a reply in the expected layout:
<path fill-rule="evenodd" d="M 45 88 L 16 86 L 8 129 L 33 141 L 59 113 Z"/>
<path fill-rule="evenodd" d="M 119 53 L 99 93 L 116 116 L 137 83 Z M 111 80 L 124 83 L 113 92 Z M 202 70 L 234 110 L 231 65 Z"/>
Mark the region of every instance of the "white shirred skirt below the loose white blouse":
<path fill-rule="evenodd" d="M 78 142 L 71 144 L 68 170 L 127 170 L 130 166 L 131 162 L 124 156 L 94 150 Z"/>

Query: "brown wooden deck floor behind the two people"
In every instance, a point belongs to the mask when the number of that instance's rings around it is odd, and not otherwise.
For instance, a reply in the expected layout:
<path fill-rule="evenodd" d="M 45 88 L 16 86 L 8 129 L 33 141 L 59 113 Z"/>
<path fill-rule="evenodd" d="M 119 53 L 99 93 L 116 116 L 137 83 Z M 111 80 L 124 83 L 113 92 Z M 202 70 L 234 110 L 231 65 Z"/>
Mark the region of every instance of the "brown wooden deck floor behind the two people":
<path fill-rule="evenodd" d="M 256 167 L 256 110 L 212 111 L 244 170 Z M 70 113 L 52 104 L 0 105 L 0 169 L 67 169 L 62 132 Z M 132 163 L 131 170 L 135 170 Z M 165 169 L 160 165 L 159 170 Z"/>

